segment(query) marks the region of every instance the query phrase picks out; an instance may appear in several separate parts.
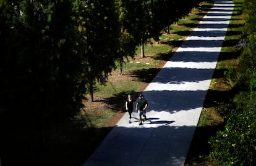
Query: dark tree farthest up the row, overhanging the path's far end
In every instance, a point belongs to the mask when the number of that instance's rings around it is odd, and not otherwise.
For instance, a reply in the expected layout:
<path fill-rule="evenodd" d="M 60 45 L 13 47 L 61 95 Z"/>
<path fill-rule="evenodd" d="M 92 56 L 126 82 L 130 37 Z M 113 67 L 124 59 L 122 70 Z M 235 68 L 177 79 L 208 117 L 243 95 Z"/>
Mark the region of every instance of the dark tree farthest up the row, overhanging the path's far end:
<path fill-rule="evenodd" d="M 169 26 L 177 22 L 182 17 L 188 15 L 193 7 L 197 5 L 197 0 L 176 0 L 176 1 L 161 1 L 147 0 L 138 1 L 140 9 L 138 26 L 140 30 L 140 57 L 145 57 L 144 43 L 148 39 L 153 38 L 159 40 L 162 31 L 168 30 Z M 168 28 L 167 28 L 168 27 Z"/>

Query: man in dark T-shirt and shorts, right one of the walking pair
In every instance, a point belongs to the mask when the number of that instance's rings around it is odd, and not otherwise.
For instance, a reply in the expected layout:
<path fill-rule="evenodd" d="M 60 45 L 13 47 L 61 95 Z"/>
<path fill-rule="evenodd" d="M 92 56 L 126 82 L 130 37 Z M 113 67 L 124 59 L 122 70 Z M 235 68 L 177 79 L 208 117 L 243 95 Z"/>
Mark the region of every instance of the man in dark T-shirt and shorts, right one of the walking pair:
<path fill-rule="evenodd" d="M 140 117 L 139 125 L 142 125 L 142 116 L 144 117 L 145 121 L 147 121 L 147 117 L 146 117 L 147 107 L 148 107 L 148 101 L 144 98 L 143 94 L 140 94 L 139 100 L 137 101 L 136 108 L 135 108 L 137 113 L 139 113 L 139 117 Z"/>

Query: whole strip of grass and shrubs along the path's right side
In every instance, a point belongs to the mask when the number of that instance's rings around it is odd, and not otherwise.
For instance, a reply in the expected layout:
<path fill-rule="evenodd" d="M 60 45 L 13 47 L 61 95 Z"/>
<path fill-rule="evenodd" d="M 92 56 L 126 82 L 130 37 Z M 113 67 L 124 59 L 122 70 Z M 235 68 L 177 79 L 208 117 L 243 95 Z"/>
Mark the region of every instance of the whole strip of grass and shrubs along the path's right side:
<path fill-rule="evenodd" d="M 249 67 L 253 58 L 241 44 L 248 35 L 248 5 L 233 2 L 236 6 L 186 165 L 255 164 L 254 67 Z"/>

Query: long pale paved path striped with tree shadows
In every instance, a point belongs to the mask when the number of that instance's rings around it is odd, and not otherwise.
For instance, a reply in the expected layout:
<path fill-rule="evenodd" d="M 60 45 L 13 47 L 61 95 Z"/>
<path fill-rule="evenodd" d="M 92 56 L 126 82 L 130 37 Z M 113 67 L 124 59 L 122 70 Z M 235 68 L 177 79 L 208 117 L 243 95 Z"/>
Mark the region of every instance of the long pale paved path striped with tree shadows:
<path fill-rule="evenodd" d="M 215 1 L 143 92 L 149 121 L 126 113 L 83 166 L 184 165 L 233 7 Z"/>

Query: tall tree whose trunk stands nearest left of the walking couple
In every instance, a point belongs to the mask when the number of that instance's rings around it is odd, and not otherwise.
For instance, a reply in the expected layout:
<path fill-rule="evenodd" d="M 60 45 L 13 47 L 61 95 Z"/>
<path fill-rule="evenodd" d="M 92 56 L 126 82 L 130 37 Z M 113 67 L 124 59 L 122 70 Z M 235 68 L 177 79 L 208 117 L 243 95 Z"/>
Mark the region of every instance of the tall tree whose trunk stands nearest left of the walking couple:
<path fill-rule="evenodd" d="M 83 79 L 93 101 L 96 82 L 104 84 L 108 74 L 116 67 L 119 48 L 119 24 L 112 1 L 74 1 L 73 10 L 79 30 L 79 46 L 83 54 Z"/>

